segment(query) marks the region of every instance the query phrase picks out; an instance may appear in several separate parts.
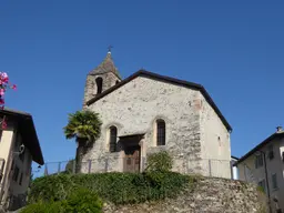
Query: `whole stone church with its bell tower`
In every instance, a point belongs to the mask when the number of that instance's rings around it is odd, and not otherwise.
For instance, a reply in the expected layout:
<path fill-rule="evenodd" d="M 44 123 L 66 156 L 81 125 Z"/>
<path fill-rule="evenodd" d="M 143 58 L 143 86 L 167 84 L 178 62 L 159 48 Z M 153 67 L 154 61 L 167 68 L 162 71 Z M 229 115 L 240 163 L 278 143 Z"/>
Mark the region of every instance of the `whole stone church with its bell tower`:
<path fill-rule="evenodd" d="M 122 79 L 108 52 L 87 77 L 83 108 L 103 124 L 82 172 L 143 171 L 166 150 L 173 171 L 231 178 L 232 128 L 201 84 L 145 70 Z"/>

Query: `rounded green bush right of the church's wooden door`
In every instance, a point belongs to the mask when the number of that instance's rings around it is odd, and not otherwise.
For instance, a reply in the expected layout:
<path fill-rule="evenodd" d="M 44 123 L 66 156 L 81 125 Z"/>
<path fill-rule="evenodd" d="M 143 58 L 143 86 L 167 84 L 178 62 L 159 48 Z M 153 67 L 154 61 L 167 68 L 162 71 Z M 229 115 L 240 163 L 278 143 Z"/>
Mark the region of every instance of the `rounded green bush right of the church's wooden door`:
<path fill-rule="evenodd" d="M 158 152 L 148 156 L 148 166 L 146 171 L 152 172 L 169 172 L 172 170 L 173 159 L 166 152 Z"/>

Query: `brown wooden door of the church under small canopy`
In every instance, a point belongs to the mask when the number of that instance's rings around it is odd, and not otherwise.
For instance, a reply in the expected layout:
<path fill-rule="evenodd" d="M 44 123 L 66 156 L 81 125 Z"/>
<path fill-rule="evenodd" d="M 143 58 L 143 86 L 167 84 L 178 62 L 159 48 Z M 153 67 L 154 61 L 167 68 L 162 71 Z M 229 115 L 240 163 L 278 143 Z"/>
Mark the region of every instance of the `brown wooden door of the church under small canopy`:
<path fill-rule="evenodd" d="M 140 172 L 140 148 L 125 150 L 124 172 Z"/>

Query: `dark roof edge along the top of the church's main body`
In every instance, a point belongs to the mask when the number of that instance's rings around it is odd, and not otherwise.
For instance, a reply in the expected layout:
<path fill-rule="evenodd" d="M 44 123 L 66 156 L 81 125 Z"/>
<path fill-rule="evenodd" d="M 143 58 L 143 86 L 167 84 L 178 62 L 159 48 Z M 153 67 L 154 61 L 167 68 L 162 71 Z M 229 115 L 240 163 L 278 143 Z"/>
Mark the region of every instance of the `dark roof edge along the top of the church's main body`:
<path fill-rule="evenodd" d="M 229 124 L 226 119 L 223 116 L 223 114 L 221 113 L 221 111 L 219 110 L 219 108 L 216 106 L 214 101 L 211 99 L 211 97 L 207 93 L 207 91 L 203 88 L 203 85 L 197 84 L 197 83 L 192 83 L 192 82 L 189 82 L 189 81 L 183 81 L 183 80 L 165 77 L 165 75 L 161 75 L 161 74 L 156 74 L 156 73 L 149 72 L 149 71 L 145 71 L 145 70 L 139 70 L 138 72 L 135 72 L 134 74 L 132 74 L 129 78 L 124 79 L 120 83 L 118 83 L 118 84 L 113 85 L 112 88 L 105 90 L 104 92 L 98 94 L 93 99 L 89 100 L 87 102 L 87 105 L 90 105 L 90 104 L 94 103 L 95 101 L 102 99 L 106 94 L 113 92 L 114 90 L 121 88 L 122 85 L 126 84 L 128 82 L 132 81 L 133 79 L 135 79 L 138 77 L 148 77 L 148 78 L 151 78 L 151 79 L 154 79 L 154 80 L 158 80 L 158 81 L 164 81 L 164 82 L 168 82 L 168 83 L 172 83 L 172 84 L 176 84 L 176 85 L 181 85 L 181 87 L 199 90 L 204 95 L 204 98 L 206 99 L 209 104 L 215 110 L 216 114 L 220 116 L 220 119 L 222 120 L 222 122 L 224 123 L 226 129 L 229 131 L 232 131 L 231 125 Z"/>

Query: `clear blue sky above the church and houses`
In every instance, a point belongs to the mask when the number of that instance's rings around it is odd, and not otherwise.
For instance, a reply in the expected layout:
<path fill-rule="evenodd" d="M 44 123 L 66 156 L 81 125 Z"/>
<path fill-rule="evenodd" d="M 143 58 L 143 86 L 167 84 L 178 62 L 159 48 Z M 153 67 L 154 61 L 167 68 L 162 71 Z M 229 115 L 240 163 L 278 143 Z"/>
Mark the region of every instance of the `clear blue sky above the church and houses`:
<path fill-rule="evenodd" d="M 284 1 L 0 1 L 0 70 L 30 112 L 44 160 L 71 159 L 67 114 L 87 73 L 114 47 L 125 78 L 140 68 L 203 84 L 233 126 L 240 156 L 284 124 Z"/>

